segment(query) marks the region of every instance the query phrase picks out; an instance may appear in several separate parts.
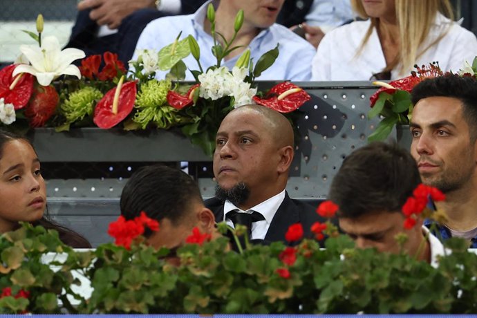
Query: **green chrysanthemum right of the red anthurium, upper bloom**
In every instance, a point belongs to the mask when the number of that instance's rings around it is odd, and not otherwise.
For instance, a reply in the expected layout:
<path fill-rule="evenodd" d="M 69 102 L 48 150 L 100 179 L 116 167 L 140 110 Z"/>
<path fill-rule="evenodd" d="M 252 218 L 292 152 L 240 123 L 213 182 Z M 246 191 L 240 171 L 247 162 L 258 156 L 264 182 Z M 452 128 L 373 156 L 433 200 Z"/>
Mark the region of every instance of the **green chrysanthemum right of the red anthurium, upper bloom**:
<path fill-rule="evenodd" d="M 135 105 L 142 109 L 162 106 L 167 103 L 167 92 L 171 89 L 171 81 L 151 79 L 141 85 Z"/>

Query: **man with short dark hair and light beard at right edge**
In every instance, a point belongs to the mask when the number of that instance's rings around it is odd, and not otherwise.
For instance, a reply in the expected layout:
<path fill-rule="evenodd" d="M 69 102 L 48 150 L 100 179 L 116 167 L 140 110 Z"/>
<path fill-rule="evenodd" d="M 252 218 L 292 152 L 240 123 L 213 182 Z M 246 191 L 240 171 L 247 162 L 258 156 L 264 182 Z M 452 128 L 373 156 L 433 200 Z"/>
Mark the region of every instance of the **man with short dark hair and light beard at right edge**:
<path fill-rule="evenodd" d="M 413 88 L 411 153 L 422 182 L 446 195 L 442 238 L 458 236 L 477 247 L 477 80 L 445 75 Z"/>

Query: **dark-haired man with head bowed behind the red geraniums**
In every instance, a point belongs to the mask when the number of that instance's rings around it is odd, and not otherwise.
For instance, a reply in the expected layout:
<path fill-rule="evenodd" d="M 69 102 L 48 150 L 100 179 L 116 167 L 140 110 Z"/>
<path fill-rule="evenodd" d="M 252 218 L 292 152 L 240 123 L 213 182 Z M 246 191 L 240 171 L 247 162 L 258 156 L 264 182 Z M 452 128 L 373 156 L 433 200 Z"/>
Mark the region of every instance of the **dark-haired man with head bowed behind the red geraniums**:
<path fill-rule="evenodd" d="M 346 157 L 333 178 L 328 198 L 339 206 L 339 227 L 353 238 L 357 247 L 375 247 L 391 253 L 402 248 L 411 256 L 436 264 L 444 247 L 422 227 L 422 219 L 418 218 L 410 230 L 404 230 L 402 206 L 420 181 L 415 160 L 407 151 L 374 142 Z M 408 236 L 402 246 L 395 238 L 400 233 Z"/>

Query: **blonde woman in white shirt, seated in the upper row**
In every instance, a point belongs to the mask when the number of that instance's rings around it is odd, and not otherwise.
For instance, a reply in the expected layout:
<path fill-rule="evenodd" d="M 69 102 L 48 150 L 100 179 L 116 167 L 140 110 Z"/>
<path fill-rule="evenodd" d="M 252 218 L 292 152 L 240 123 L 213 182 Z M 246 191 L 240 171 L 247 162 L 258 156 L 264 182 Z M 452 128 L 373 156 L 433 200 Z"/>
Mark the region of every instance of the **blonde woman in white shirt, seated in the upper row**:
<path fill-rule="evenodd" d="M 366 21 L 325 35 L 313 58 L 312 80 L 397 79 L 410 75 L 415 64 L 431 62 L 456 72 L 477 52 L 476 36 L 453 21 L 449 0 L 353 0 L 352 5 Z"/>

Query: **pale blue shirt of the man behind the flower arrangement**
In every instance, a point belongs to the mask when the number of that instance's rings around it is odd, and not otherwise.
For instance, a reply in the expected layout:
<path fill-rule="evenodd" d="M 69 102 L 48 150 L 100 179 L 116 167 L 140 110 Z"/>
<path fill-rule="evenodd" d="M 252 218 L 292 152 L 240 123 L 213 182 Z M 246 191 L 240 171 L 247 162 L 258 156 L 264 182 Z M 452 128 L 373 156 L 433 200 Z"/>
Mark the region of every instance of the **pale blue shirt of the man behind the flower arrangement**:
<path fill-rule="evenodd" d="M 174 42 L 179 32 L 182 31 L 180 39 L 184 39 L 188 35 L 192 35 L 200 47 L 200 64 L 204 70 L 209 66 L 216 64 L 216 57 L 212 55 L 212 46 L 214 39 L 204 30 L 204 20 L 207 13 L 207 5 L 211 1 L 207 1 L 193 15 L 176 15 L 171 17 L 162 17 L 151 21 L 138 39 L 135 47 L 133 60 L 138 59 L 138 51 L 156 50 Z M 230 25 L 230 28 L 233 24 Z M 248 48 L 250 48 L 250 56 L 254 60 L 254 64 L 259 60 L 263 53 L 272 50 L 279 44 L 279 56 L 274 64 L 264 71 L 257 79 L 260 80 L 283 80 L 291 81 L 308 81 L 311 78 L 310 64 L 315 55 L 315 48 L 302 39 L 288 28 L 279 24 L 273 24 L 270 28 L 265 28 L 254 37 Z M 222 65 L 227 66 L 230 70 L 236 64 L 240 55 L 227 59 Z M 187 68 L 197 70 L 197 62 L 192 55 L 189 55 L 183 62 Z M 131 68 L 130 68 L 131 69 Z M 156 72 L 157 79 L 164 79 L 167 72 Z M 186 72 L 186 80 L 194 80 L 192 74 Z"/>

